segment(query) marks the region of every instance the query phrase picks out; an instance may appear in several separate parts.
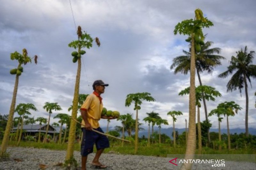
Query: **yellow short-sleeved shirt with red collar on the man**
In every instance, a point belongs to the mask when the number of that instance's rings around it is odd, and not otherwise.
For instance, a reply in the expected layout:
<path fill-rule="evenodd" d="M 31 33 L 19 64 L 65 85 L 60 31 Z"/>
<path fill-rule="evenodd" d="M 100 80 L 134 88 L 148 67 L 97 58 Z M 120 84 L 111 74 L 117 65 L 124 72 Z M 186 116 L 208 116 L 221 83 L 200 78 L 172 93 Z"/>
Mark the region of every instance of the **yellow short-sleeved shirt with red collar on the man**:
<path fill-rule="evenodd" d="M 80 110 L 87 110 L 88 122 L 92 125 L 92 128 L 100 127 L 99 120 L 101 118 L 103 104 L 102 98 L 97 92 L 93 92 L 85 99 Z M 85 124 L 84 120 L 82 124 Z M 84 128 L 84 126 L 81 126 Z"/>

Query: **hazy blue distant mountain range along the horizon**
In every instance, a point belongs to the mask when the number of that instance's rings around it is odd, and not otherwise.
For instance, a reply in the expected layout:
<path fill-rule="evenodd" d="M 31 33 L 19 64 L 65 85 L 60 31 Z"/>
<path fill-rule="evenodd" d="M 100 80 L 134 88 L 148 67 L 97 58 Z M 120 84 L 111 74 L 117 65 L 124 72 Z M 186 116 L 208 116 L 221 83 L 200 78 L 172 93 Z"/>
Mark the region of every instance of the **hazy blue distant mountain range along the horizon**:
<path fill-rule="evenodd" d="M 109 127 L 108 128 L 109 130 L 114 130 L 114 127 Z M 107 131 L 107 127 L 102 127 L 102 130 L 104 132 Z M 154 131 L 157 131 L 158 132 L 158 127 L 154 127 Z M 178 131 L 179 134 L 182 134 L 186 129 L 185 128 L 182 128 L 182 129 L 176 129 L 176 131 Z M 221 134 L 222 133 L 226 133 L 227 134 L 227 129 L 220 129 L 221 131 Z M 239 129 L 239 128 L 235 128 L 235 129 L 229 129 L 230 131 L 230 134 L 240 134 L 240 133 L 245 133 L 245 129 Z M 173 132 L 173 129 L 172 128 L 161 128 L 161 134 L 166 134 L 167 136 L 171 137 L 171 134 Z M 210 129 L 210 132 L 219 132 L 219 129 Z M 150 127 L 150 133 L 151 133 L 151 127 Z M 256 129 L 255 128 L 249 128 L 249 133 L 252 134 L 252 135 L 256 135 Z M 121 134 L 121 133 L 120 133 Z M 125 134 L 125 136 L 127 136 L 128 134 Z M 147 128 L 144 128 L 144 130 L 141 130 L 139 131 L 139 137 L 142 137 L 142 136 L 145 136 L 147 137 L 148 136 L 148 127 Z"/>

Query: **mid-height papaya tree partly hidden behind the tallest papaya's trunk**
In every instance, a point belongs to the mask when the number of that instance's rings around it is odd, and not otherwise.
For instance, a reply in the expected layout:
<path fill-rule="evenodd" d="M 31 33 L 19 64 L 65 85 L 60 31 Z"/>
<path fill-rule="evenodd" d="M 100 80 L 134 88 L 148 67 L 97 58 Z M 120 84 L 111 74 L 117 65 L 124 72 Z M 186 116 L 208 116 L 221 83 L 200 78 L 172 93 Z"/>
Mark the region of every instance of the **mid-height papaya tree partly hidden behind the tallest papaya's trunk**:
<path fill-rule="evenodd" d="M 190 87 L 182 90 L 179 95 L 189 94 Z M 202 154 L 202 133 L 201 133 L 201 123 L 200 123 L 200 107 L 201 101 L 205 100 L 215 101 L 214 97 L 220 97 L 219 91 L 215 90 L 214 87 L 208 85 L 199 85 L 196 87 L 196 106 L 197 106 L 197 132 L 198 132 L 198 154 Z"/>

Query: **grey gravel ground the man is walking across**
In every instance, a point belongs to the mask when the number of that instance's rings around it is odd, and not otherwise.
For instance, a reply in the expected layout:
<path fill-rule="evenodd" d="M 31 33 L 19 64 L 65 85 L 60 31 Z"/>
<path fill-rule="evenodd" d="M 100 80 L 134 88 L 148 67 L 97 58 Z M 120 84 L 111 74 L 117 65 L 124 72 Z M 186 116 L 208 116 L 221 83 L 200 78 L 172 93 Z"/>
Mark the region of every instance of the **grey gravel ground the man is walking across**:
<path fill-rule="evenodd" d="M 46 169 L 60 170 L 65 169 L 61 166 L 56 166 L 57 163 L 63 162 L 65 159 L 65 151 L 53 151 L 48 149 L 23 148 L 23 147 L 8 147 L 7 152 L 10 153 L 9 159 L 0 161 L 1 170 L 38 170 L 39 165 L 48 166 Z M 91 170 L 90 162 L 95 153 L 88 156 L 87 169 Z M 77 160 L 78 168 L 81 169 L 80 152 L 75 151 L 74 157 Z M 107 165 L 106 170 L 178 170 L 180 165 L 175 166 L 169 163 L 170 158 L 139 156 L 139 155 L 122 155 L 116 153 L 103 153 L 100 157 L 100 162 Z M 255 163 L 248 162 L 225 162 L 225 167 L 212 167 L 212 165 L 194 164 L 192 169 L 216 169 L 216 170 L 256 170 Z"/>

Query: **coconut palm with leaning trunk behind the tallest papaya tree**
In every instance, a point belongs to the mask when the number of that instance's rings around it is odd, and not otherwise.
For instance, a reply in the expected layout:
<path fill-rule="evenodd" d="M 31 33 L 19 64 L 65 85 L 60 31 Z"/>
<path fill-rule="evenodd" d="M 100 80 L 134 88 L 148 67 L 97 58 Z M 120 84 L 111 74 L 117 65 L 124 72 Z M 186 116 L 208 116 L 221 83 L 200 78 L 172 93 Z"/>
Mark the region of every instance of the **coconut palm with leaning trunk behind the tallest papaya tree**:
<path fill-rule="evenodd" d="M 212 41 L 207 41 L 201 46 L 201 51 L 196 52 L 196 73 L 197 73 L 197 77 L 200 85 L 203 85 L 201 81 L 200 73 L 202 73 L 203 71 L 212 73 L 214 67 L 221 65 L 220 60 L 226 59 L 223 56 L 216 55 L 216 54 L 220 54 L 221 49 L 210 48 L 212 44 L 213 44 Z M 171 69 L 175 68 L 174 74 L 177 74 L 178 72 L 181 72 L 183 74 L 188 74 L 188 71 L 190 70 L 191 48 L 189 49 L 189 52 L 183 50 L 183 53 L 185 55 L 175 57 L 172 60 L 173 63 L 170 68 Z M 208 121 L 207 107 L 206 107 L 206 102 L 204 99 L 203 92 L 202 92 L 202 97 L 204 102 L 205 119 L 206 121 Z M 207 130 L 207 134 L 208 134 L 208 143 L 210 143 L 211 139 L 210 139 L 209 130 Z"/>

